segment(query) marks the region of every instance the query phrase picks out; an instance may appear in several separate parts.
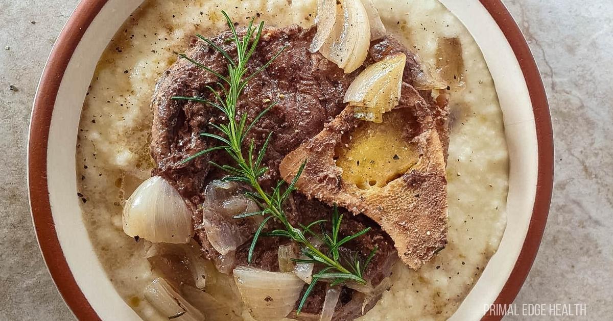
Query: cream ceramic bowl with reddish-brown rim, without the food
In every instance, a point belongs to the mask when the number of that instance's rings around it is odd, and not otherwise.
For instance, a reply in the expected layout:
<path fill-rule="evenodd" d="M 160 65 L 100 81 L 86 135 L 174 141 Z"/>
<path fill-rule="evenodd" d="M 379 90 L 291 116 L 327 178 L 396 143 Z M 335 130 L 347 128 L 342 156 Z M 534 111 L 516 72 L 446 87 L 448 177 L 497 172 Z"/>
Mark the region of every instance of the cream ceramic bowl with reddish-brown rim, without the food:
<path fill-rule="evenodd" d="M 40 250 L 80 320 L 140 320 L 118 295 L 89 241 L 75 172 L 80 111 L 99 57 L 143 0 L 83 0 L 53 46 L 32 110 L 28 185 Z M 553 138 L 530 49 L 500 0 L 441 0 L 481 47 L 497 87 L 509 147 L 508 223 L 497 254 L 450 320 L 500 320 L 525 281 L 547 221 Z"/>

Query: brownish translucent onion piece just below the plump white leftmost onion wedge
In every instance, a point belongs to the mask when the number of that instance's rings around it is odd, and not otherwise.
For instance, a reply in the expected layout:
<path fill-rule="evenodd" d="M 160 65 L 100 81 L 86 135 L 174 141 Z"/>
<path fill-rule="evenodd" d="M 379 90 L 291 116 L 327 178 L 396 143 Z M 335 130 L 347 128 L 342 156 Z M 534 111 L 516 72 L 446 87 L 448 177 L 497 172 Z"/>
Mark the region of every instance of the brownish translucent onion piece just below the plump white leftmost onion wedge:
<path fill-rule="evenodd" d="M 196 241 L 191 240 L 188 244 L 153 244 L 145 257 L 154 268 L 158 268 L 164 277 L 178 279 L 185 283 L 186 278 L 181 278 L 180 268 L 186 268 L 191 282 L 198 289 L 204 289 L 207 284 L 208 275 L 213 269 L 210 261 L 200 256 L 200 248 Z M 170 257 L 170 258 L 169 258 Z"/>

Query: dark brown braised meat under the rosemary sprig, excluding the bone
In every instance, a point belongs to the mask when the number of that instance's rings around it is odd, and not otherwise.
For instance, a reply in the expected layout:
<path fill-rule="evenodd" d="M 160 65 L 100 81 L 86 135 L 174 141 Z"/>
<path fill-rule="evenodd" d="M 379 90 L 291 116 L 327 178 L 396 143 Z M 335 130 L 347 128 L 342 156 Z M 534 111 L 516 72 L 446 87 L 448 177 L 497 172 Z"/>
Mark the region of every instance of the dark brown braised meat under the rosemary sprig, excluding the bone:
<path fill-rule="evenodd" d="M 244 29 L 239 29 L 239 32 L 244 32 Z M 247 138 L 248 141 L 253 139 L 257 149 L 262 146 L 268 134 L 273 132 L 272 141 L 264 157 L 268 172 L 260 180 L 264 188 L 270 188 L 281 179 L 279 166 L 288 153 L 318 135 L 327 123 L 332 122 L 341 113 L 345 108 L 343 104 L 345 91 L 361 71 L 360 69 L 346 75 L 321 54 L 310 53 L 308 45 L 313 39 L 314 32 L 314 29 L 302 29 L 295 25 L 286 28 L 266 27 L 261 42 L 248 63 L 248 73 L 254 72 L 286 46 L 273 64 L 249 81 L 237 105 L 238 116 L 247 113 L 248 122 L 251 122 L 271 103 L 277 103 L 257 122 Z M 234 53 L 234 43 L 225 41 L 230 35 L 229 31 L 222 32 L 211 40 L 229 53 Z M 405 81 L 411 83 L 411 75 L 420 72 L 419 64 L 413 54 L 391 38 L 384 38 L 371 44 L 366 64 L 379 61 L 390 53 L 398 51 L 404 51 L 409 57 Z M 227 73 L 227 62 L 224 57 L 200 40 L 193 40 L 187 54 L 216 72 Z M 202 137 L 200 133 L 216 133 L 210 123 L 223 124 L 227 119 L 211 106 L 185 100 L 172 100 L 174 96 L 200 96 L 212 100 L 213 97 L 207 86 L 215 86 L 217 82 L 215 75 L 185 59 L 177 61 L 162 75 L 152 102 L 154 120 L 151 155 L 158 164 L 153 174 L 162 175 L 169 180 L 185 197 L 194 213 L 194 226 L 204 255 L 214 260 L 218 267 L 225 267 L 227 272 L 228 267 L 231 270 L 236 264 L 246 264 L 249 242 L 237 249 L 236 253 L 232 253 L 232 256 L 221 256 L 216 253 L 208 242 L 205 232 L 200 228 L 202 213 L 198 207 L 204 200 L 205 186 L 211 180 L 224 175 L 224 172 L 212 168 L 208 162 L 213 160 L 223 164 L 231 163 L 231 160 L 224 152 L 212 152 L 188 163 L 181 163 L 194 153 L 215 146 L 216 141 Z M 445 115 L 446 106 L 436 105 L 431 92 L 425 91 L 421 94 L 428 102 L 426 108 L 432 109 L 432 113 L 436 110 L 441 117 Z M 446 131 L 444 126 L 440 128 L 441 131 Z M 316 199 L 308 199 L 298 192 L 294 193 L 292 199 L 284 205 L 292 224 L 329 218 L 332 213 L 329 205 Z M 350 242 L 348 248 L 366 256 L 370 249 L 379 246 L 375 259 L 365 273 L 373 285 L 378 284 L 391 274 L 392 265 L 397 260 L 392 240 L 381 227 L 366 216 L 353 215 L 345 208 L 339 210 L 345 213 L 341 234 L 349 235 L 366 226 L 372 227 L 373 231 Z M 267 270 L 278 270 L 278 246 L 284 243 L 287 243 L 287 240 L 262 237 L 256 246 L 252 265 Z M 323 287 L 319 287 L 311 295 L 305 313 L 317 314 L 321 311 L 324 290 Z M 345 293 L 343 303 L 337 307 L 338 311 L 342 312 L 342 315 L 335 315 L 337 320 L 351 320 L 361 314 L 364 296 L 354 295 L 353 291 L 348 290 L 345 290 Z M 348 312 L 348 309 L 341 308 L 349 305 L 360 306 L 360 309 L 351 309 L 353 312 Z"/>

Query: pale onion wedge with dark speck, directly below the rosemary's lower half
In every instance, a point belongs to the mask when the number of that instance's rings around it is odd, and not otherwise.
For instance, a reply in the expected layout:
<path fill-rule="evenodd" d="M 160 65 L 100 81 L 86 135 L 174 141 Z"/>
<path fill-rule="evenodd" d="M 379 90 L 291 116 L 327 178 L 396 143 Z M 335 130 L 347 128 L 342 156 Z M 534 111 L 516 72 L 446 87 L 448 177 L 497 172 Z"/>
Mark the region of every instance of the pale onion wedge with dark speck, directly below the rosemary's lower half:
<path fill-rule="evenodd" d="M 238 266 L 234 281 L 249 314 L 259 321 L 281 320 L 294 309 L 305 282 L 294 273 Z"/>

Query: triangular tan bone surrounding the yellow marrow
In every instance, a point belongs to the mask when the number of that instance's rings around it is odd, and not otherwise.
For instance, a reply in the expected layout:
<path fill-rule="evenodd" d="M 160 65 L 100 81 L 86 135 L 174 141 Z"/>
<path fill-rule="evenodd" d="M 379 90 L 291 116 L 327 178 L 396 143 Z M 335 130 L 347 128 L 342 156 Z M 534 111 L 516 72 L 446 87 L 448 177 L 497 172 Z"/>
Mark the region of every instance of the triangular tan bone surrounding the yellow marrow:
<path fill-rule="evenodd" d="M 383 124 L 387 116 L 402 117 L 405 124 L 411 125 L 419 117 L 406 113 L 409 109 L 399 105 L 384 115 Z M 338 204 L 375 220 L 394 240 L 400 259 L 417 270 L 444 248 L 447 236 L 446 166 L 432 117 L 412 124 L 406 128 L 410 132 L 402 135 L 415 145 L 419 155 L 414 166 L 383 188 L 364 190 L 344 180 L 343 169 L 334 160 L 335 147 L 343 143 L 343 133 L 360 125 L 352 110 L 353 107 L 348 107 L 319 135 L 289 153 L 281 162 L 281 175 L 291 180 L 308 159 L 297 188 L 308 197 Z"/>

